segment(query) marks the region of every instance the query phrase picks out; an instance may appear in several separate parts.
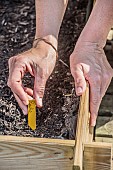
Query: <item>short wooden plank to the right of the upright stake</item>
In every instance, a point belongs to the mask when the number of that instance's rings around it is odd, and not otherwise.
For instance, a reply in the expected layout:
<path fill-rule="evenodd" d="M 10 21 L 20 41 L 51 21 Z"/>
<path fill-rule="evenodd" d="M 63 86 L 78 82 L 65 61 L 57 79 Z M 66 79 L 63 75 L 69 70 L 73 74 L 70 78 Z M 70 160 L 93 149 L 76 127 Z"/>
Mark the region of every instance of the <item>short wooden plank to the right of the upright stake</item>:
<path fill-rule="evenodd" d="M 84 145 L 84 170 L 112 170 L 112 145 L 92 142 Z"/>

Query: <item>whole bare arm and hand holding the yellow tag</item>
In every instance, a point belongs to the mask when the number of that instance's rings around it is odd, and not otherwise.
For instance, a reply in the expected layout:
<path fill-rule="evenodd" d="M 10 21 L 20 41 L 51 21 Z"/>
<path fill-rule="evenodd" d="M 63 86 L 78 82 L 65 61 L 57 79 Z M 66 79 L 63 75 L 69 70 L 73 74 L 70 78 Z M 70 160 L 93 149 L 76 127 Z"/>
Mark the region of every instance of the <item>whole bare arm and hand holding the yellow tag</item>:
<path fill-rule="evenodd" d="M 57 49 L 57 38 L 67 6 L 67 0 L 36 0 L 36 35 L 50 42 Z M 36 100 L 37 107 L 42 107 L 45 84 L 56 63 L 55 50 L 44 41 L 37 47 L 9 59 L 8 86 L 21 107 L 27 114 L 29 99 Z M 30 72 L 35 77 L 34 89 L 22 85 L 22 77 Z"/>

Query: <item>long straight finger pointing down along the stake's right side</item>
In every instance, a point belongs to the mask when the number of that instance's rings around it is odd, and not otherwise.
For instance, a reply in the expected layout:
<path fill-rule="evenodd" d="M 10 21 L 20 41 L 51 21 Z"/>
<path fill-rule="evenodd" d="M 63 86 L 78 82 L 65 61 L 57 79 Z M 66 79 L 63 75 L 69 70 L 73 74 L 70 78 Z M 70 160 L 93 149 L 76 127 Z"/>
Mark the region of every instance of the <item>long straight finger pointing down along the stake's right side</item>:
<path fill-rule="evenodd" d="M 100 93 L 100 85 L 96 85 L 95 83 L 90 84 L 90 125 L 96 125 L 96 119 L 98 115 L 99 106 L 101 103 L 101 93 Z"/>

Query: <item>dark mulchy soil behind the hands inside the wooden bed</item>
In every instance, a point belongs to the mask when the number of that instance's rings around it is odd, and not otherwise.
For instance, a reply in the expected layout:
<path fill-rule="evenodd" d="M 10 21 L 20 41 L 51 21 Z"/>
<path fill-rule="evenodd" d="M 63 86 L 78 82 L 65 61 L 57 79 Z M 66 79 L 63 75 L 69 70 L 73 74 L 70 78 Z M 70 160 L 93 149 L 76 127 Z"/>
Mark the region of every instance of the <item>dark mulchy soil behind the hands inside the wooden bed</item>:
<path fill-rule="evenodd" d="M 69 1 L 59 34 L 59 59 L 50 76 L 43 108 L 37 109 L 37 129 L 27 125 L 7 86 L 8 59 L 32 46 L 35 35 L 34 0 L 0 0 L 0 134 L 72 139 L 76 126 L 79 98 L 69 68 L 69 56 L 85 24 L 84 0 Z M 30 75 L 23 80 L 31 86 Z"/>

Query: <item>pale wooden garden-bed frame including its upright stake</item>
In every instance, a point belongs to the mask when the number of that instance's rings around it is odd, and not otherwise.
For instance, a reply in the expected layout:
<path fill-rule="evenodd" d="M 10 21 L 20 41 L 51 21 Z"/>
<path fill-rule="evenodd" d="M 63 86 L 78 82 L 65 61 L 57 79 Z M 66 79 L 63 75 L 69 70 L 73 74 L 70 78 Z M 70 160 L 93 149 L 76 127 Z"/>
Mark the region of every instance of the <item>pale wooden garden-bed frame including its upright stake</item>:
<path fill-rule="evenodd" d="M 87 85 L 76 140 L 0 136 L 0 170 L 112 170 L 112 145 L 92 141 L 89 118 Z"/>

